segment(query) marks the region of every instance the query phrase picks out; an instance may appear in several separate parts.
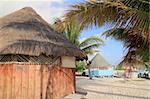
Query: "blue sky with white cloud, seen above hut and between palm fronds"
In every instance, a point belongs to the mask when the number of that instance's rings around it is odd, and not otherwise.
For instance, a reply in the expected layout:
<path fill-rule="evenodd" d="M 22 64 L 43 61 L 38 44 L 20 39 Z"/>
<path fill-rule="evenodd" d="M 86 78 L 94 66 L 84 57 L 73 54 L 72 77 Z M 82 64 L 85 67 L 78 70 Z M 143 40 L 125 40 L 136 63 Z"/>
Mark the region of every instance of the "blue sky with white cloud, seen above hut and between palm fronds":
<path fill-rule="evenodd" d="M 70 5 L 84 2 L 85 0 L 0 0 L 0 17 L 23 7 L 32 7 L 48 23 L 52 24 L 56 18 L 63 16 Z M 108 26 L 84 29 L 80 39 L 98 35 L 108 30 Z M 104 38 L 105 45 L 99 48 L 100 54 L 112 65 L 117 65 L 124 55 L 123 44 L 112 38 Z"/>

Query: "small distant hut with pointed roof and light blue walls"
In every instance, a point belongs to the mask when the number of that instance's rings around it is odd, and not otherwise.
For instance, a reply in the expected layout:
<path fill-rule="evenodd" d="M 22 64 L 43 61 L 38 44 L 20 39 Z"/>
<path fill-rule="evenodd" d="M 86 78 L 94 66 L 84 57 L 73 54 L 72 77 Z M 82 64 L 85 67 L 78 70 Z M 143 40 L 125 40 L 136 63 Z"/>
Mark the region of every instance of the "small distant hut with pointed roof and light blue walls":
<path fill-rule="evenodd" d="M 113 76 L 113 67 L 99 53 L 92 58 L 90 71 L 92 76 Z"/>

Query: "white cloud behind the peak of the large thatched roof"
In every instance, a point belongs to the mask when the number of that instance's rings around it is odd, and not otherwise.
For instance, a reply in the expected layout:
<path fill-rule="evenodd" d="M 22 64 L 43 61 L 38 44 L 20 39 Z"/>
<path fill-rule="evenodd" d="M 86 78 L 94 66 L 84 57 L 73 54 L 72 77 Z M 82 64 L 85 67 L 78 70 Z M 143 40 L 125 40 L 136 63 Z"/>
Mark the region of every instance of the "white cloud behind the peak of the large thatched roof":
<path fill-rule="evenodd" d="M 19 1 L 0 1 L 0 17 L 23 7 L 32 7 L 46 21 L 52 23 L 54 18 L 63 15 L 65 8 L 63 6 L 55 7 L 53 4 L 63 5 L 64 0 L 19 0 Z M 53 5 L 53 6 L 52 6 Z"/>

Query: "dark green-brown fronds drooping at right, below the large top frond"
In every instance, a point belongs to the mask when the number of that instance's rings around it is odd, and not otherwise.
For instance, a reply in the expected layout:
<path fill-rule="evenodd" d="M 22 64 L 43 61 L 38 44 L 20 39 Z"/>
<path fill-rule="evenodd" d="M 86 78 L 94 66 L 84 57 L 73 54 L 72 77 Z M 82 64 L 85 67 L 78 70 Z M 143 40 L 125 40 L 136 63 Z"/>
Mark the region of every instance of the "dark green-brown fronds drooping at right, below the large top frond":
<path fill-rule="evenodd" d="M 106 37 L 113 37 L 124 43 L 124 46 L 128 49 L 128 53 L 125 55 L 123 62 L 130 61 L 135 63 L 136 60 L 141 60 L 143 62 L 149 61 L 149 45 L 150 42 L 142 35 L 137 35 L 137 33 L 131 30 L 125 30 L 123 28 L 113 28 L 105 33 Z"/>

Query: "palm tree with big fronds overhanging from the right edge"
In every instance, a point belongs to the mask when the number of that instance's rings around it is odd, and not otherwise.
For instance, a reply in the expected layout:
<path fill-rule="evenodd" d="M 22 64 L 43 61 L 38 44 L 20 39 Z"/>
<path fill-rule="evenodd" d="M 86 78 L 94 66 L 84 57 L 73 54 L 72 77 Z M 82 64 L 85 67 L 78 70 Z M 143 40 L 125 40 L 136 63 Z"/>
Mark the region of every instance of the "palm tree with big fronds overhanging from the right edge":
<path fill-rule="evenodd" d="M 90 0 L 73 5 L 64 15 L 63 25 L 78 20 L 80 29 L 87 26 L 113 25 L 106 36 L 121 40 L 128 49 L 126 61 L 137 58 L 149 61 L 149 0 Z"/>

